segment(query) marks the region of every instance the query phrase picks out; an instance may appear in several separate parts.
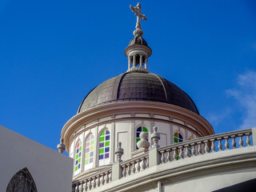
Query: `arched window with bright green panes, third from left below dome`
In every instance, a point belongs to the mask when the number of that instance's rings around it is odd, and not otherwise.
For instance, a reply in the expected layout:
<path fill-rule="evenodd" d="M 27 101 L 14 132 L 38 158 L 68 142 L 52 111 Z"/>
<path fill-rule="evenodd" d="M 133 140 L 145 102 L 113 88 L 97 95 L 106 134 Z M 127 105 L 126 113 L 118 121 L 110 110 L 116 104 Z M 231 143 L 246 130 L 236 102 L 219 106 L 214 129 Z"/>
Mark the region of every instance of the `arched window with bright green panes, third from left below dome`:
<path fill-rule="evenodd" d="M 102 130 L 99 137 L 99 166 L 106 165 L 110 162 L 110 131 Z"/>

